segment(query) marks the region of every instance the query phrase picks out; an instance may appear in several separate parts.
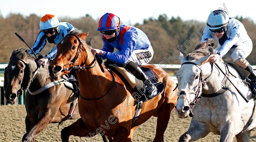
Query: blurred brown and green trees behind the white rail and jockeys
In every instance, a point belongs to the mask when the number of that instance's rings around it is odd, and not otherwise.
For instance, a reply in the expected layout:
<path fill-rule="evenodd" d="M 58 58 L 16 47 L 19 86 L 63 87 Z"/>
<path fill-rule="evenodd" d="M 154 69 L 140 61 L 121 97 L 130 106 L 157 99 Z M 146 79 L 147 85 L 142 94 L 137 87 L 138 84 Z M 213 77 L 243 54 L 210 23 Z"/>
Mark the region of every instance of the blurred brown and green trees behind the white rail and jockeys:
<path fill-rule="evenodd" d="M 93 48 L 101 49 L 103 42 L 101 33 L 98 28 L 98 19 L 93 19 L 90 15 L 85 15 L 78 19 L 69 17 L 57 17 L 60 22 L 68 22 L 83 32 L 90 32 L 89 38 L 93 39 Z M 253 41 L 253 51 L 247 57 L 251 65 L 256 65 L 256 25 L 251 19 L 243 17 L 235 17 L 244 24 L 248 35 Z M 0 49 L 2 52 L 0 63 L 7 63 L 14 49 L 28 48 L 16 35 L 17 32 L 32 47 L 38 35 L 39 21 L 41 17 L 35 14 L 23 16 L 20 14 L 9 14 L 3 18 L 0 13 Z M 120 17 L 122 22 L 122 17 Z M 126 23 L 122 23 L 126 24 Z M 206 22 L 198 22 L 195 20 L 183 21 L 180 17 L 168 18 L 165 14 L 159 15 L 158 19 L 144 19 L 143 24 L 135 24 L 148 36 L 154 49 L 154 57 L 151 64 L 180 64 L 178 60 L 178 52 L 184 55 L 192 52 L 196 45 L 201 41 L 201 35 L 205 28 Z M 47 43 L 40 52 L 42 55 L 54 47 L 54 44 Z"/>

